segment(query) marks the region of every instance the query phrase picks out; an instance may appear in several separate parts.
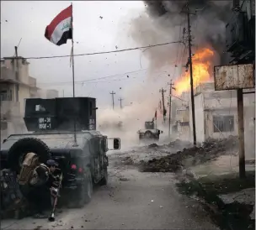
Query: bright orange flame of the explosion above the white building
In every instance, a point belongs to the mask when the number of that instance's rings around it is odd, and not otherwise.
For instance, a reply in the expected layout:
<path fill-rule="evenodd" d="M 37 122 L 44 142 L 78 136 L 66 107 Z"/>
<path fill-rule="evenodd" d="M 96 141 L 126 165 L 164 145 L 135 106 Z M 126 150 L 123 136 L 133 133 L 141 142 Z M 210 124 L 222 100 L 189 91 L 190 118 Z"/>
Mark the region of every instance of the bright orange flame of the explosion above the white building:
<path fill-rule="evenodd" d="M 211 68 L 211 61 L 209 58 L 213 57 L 214 52 L 208 48 L 199 50 L 192 57 L 193 65 L 193 85 L 194 88 L 202 82 L 211 80 L 209 69 Z M 184 91 L 190 90 L 190 74 L 189 70 L 184 72 L 182 76 L 175 82 L 176 93 L 181 95 Z"/>

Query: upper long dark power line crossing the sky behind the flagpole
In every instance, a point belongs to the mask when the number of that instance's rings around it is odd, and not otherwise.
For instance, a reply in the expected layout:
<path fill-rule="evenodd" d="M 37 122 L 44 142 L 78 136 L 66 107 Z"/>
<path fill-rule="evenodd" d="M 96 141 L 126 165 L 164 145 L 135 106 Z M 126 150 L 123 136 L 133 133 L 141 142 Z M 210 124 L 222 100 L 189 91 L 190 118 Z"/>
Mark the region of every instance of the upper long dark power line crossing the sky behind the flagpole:
<path fill-rule="evenodd" d="M 141 49 L 146 49 L 146 48 L 150 48 L 150 47 L 162 46 L 162 45 L 167 45 L 167 44 L 175 44 L 175 43 L 181 43 L 181 41 L 166 42 L 166 43 L 162 43 L 162 44 L 149 44 L 149 45 L 146 45 L 146 46 L 140 46 L 140 47 L 129 48 L 129 49 L 124 49 L 124 50 L 110 50 L 110 51 L 102 51 L 102 52 L 94 52 L 94 53 L 85 53 L 85 54 L 74 55 L 74 56 L 104 55 L 104 54 L 111 54 L 111 53 L 120 53 L 120 52 L 124 52 L 124 51 L 141 50 Z M 70 55 L 24 57 L 24 59 L 26 59 L 26 60 L 31 60 L 31 59 L 36 60 L 36 59 L 51 59 L 51 58 L 63 58 L 63 57 L 70 57 Z"/>

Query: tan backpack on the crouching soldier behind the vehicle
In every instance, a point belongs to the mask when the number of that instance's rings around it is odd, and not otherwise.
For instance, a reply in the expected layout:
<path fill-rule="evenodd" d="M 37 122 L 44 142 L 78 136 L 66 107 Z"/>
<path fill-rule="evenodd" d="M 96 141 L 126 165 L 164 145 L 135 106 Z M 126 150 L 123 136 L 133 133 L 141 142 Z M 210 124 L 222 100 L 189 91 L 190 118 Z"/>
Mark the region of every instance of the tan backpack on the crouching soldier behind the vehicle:
<path fill-rule="evenodd" d="M 18 183 L 20 186 L 25 186 L 29 184 L 29 180 L 31 179 L 33 171 L 38 165 L 40 165 L 40 161 L 36 154 L 26 154 L 18 178 Z"/>

